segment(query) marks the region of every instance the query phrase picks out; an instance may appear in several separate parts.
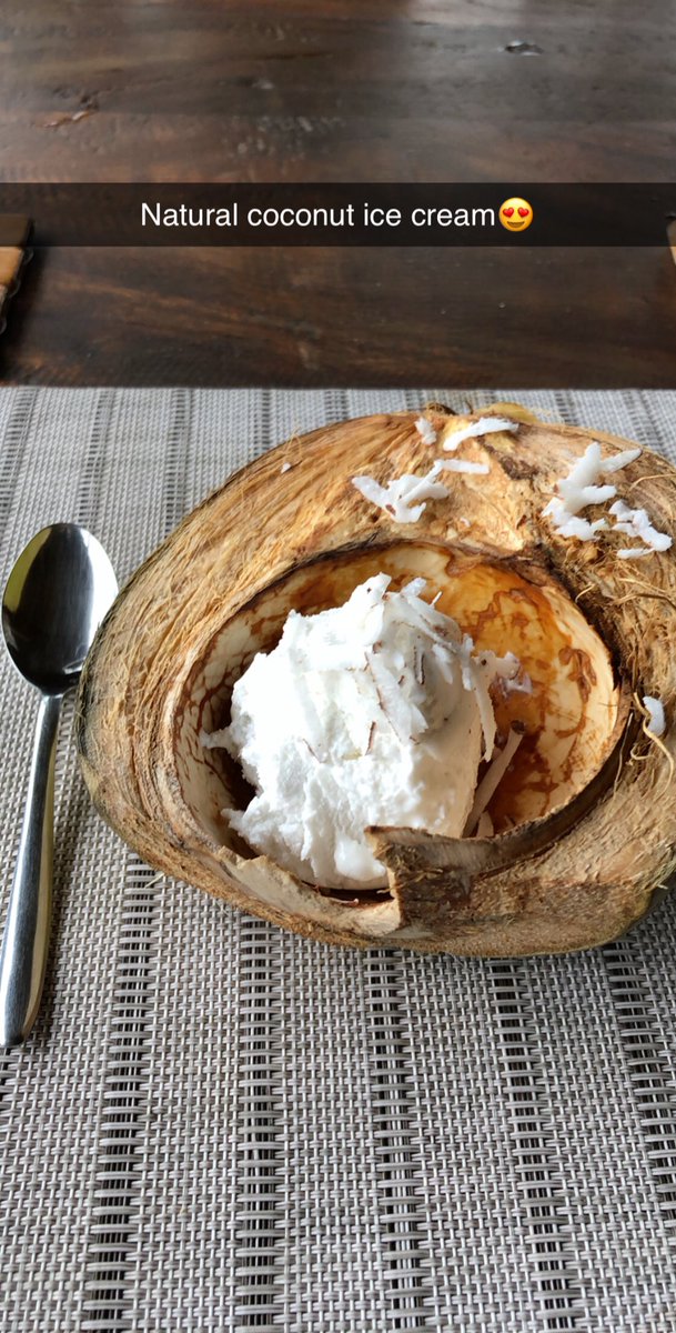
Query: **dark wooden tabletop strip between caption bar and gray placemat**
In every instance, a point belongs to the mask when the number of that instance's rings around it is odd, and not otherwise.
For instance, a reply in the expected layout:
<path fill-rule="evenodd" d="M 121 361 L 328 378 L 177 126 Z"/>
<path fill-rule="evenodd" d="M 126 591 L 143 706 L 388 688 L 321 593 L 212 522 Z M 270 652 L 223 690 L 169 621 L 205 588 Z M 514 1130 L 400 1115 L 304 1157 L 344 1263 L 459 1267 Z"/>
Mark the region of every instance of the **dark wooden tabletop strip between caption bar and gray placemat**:
<path fill-rule="evenodd" d="M 17 383 L 675 384 L 676 271 L 633 251 L 41 252 Z"/>

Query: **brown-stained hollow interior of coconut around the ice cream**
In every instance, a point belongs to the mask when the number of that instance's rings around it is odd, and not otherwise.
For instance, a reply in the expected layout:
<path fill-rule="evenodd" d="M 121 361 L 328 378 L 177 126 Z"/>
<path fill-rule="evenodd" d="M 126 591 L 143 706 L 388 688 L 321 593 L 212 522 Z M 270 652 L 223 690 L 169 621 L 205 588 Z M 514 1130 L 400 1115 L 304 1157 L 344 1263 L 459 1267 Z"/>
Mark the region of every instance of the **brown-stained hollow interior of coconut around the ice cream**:
<path fill-rule="evenodd" d="M 236 680 L 257 652 L 274 648 L 291 608 L 313 615 L 341 605 L 377 573 L 390 575 L 393 589 L 424 577 L 426 595 L 440 593 L 438 609 L 472 636 L 476 651 L 514 652 L 530 677 L 530 693 L 499 685 L 492 690 L 498 742 L 504 744 L 510 728 L 523 736 L 487 806 L 496 834 L 567 805 L 605 764 L 627 720 L 627 698 L 603 640 L 558 580 L 524 561 L 488 563 L 428 543 L 333 552 L 263 588 L 220 627 L 176 700 L 181 793 L 210 838 L 255 854 L 224 813 L 245 808 L 253 792 L 228 752 L 208 749 L 201 740 L 228 725 Z M 378 897 L 365 890 L 362 901 Z"/>

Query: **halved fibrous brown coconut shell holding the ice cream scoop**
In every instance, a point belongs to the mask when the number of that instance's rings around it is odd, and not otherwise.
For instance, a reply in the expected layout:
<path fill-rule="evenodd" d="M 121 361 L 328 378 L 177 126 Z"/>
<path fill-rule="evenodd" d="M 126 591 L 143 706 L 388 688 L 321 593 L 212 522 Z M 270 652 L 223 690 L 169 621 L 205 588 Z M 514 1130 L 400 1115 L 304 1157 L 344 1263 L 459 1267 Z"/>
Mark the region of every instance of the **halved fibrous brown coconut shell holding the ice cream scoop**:
<path fill-rule="evenodd" d="M 101 627 L 83 673 L 77 744 L 101 814 L 144 860 L 279 926 L 342 945 L 515 956 L 616 938 L 675 861 L 676 555 L 617 557 L 612 529 L 563 539 L 547 501 L 591 440 L 515 404 L 450 417 L 345 421 L 294 437 L 232 476 L 145 561 Z M 479 416 L 519 431 L 466 441 L 488 475 L 443 473 L 448 499 L 398 524 L 351 484 L 426 473 L 444 433 Z M 285 464 L 289 468 L 282 471 Z M 644 449 L 609 479 L 671 532 L 676 471 Z M 590 517 L 601 509 L 588 511 Z M 587 511 L 586 511 L 587 516 Z M 246 789 L 201 733 L 226 725 L 234 680 L 278 639 L 291 607 L 342 603 L 373 573 L 415 575 L 479 648 L 519 655 L 532 696 L 495 698 L 524 740 L 490 806 L 490 838 L 371 829 L 386 892 L 339 893 L 255 854 L 222 810 Z M 640 698 L 667 732 L 645 732 Z"/>

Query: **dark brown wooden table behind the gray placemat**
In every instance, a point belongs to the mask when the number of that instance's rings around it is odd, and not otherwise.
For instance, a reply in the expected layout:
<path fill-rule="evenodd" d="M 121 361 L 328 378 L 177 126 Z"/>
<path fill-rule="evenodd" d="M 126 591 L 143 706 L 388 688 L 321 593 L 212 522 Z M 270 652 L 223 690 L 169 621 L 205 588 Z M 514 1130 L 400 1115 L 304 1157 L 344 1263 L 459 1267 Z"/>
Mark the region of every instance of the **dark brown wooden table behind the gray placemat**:
<path fill-rule="evenodd" d="M 671 0 L 7 0 L 0 171 L 667 181 L 672 23 Z M 676 269 L 667 245 L 52 249 L 0 351 L 12 383 L 673 387 Z"/>

